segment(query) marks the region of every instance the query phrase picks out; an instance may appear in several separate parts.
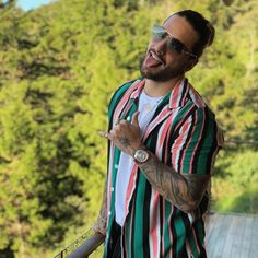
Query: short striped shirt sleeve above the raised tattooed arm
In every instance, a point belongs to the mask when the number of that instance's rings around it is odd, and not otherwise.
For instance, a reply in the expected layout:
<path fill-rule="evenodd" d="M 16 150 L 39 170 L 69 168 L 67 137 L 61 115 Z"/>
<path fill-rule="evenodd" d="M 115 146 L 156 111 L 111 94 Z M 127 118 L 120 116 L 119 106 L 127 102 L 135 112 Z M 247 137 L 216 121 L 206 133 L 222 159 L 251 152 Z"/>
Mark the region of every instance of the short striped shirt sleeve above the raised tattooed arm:
<path fill-rule="evenodd" d="M 176 134 L 176 137 L 175 137 Z M 223 137 L 213 113 L 197 108 L 174 132 L 172 166 L 180 174 L 209 175 Z"/>

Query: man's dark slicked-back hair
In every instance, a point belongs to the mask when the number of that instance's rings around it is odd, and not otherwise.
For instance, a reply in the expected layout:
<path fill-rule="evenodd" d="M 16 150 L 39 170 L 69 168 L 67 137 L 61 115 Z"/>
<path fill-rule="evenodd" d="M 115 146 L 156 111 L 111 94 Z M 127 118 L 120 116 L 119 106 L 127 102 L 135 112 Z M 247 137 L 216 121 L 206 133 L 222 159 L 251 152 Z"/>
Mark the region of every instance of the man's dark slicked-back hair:
<path fill-rule="evenodd" d="M 172 16 L 174 15 L 185 17 L 194 27 L 194 30 L 198 33 L 199 40 L 195 44 L 192 52 L 200 57 L 204 48 L 209 47 L 213 43 L 215 36 L 215 28 L 200 13 L 192 10 L 179 11 L 174 13 Z"/>

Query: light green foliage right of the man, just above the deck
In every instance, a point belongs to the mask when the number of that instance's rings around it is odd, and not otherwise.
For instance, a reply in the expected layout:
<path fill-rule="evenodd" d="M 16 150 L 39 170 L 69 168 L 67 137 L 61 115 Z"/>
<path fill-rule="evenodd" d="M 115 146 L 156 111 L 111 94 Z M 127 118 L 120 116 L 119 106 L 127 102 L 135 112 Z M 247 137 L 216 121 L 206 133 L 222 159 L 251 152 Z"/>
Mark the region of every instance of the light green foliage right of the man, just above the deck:
<path fill-rule="evenodd" d="M 224 173 L 213 181 L 212 190 L 220 211 L 258 213 L 257 152 L 243 151 L 218 162 Z"/>

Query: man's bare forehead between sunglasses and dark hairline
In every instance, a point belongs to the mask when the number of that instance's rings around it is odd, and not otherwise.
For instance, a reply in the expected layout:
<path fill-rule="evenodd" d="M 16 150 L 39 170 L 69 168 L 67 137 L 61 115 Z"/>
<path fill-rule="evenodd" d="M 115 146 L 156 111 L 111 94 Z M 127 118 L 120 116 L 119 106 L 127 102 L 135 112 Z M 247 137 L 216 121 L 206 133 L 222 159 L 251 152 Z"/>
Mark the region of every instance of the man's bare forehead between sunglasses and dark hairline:
<path fill-rule="evenodd" d="M 199 35 L 191 24 L 183 16 L 172 15 L 163 26 L 177 39 L 184 43 L 189 49 L 198 40 Z"/>

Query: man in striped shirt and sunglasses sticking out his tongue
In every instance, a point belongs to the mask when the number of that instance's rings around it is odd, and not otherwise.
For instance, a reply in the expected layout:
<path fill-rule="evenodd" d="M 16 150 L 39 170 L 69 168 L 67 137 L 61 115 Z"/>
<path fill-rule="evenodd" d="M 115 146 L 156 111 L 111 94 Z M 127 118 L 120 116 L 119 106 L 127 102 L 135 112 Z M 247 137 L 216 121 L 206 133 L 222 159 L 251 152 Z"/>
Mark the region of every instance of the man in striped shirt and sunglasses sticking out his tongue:
<path fill-rule="evenodd" d="M 191 10 L 154 25 L 142 78 L 108 109 L 108 175 L 94 226 L 104 257 L 207 257 L 203 213 L 220 149 L 214 115 L 185 73 L 212 44 L 214 28 Z"/>

